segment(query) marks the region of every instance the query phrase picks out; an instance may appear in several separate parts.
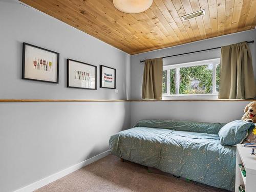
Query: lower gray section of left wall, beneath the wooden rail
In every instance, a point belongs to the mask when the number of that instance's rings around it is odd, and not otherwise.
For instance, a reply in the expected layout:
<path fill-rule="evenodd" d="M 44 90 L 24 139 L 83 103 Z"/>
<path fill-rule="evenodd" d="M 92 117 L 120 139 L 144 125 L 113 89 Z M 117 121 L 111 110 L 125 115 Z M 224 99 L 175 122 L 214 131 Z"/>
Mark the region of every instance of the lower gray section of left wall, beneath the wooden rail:
<path fill-rule="evenodd" d="M 130 102 L 0 103 L 0 191 L 105 152 L 130 113 Z"/>

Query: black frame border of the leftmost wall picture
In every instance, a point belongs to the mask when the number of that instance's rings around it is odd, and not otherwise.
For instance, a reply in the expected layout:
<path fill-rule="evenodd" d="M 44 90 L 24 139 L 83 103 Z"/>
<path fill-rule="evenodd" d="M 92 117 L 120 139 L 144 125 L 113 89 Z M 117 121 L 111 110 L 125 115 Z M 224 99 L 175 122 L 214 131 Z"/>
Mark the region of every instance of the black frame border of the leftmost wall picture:
<path fill-rule="evenodd" d="M 45 50 L 51 53 L 55 53 L 57 55 L 57 80 L 56 81 L 46 81 L 46 80 L 39 80 L 39 79 L 31 79 L 31 78 L 26 78 L 25 77 L 25 56 L 26 56 L 26 46 L 30 46 L 30 47 L 34 47 L 37 49 L 41 49 L 41 50 Z M 51 82 L 51 83 L 59 83 L 59 53 L 55 52 L 55 51 L 51 51 L 49 49 L 45 49 L 45 48 L 41 48 L 35 45 L 31 45 L 28 44 L 27 42 L 23 42 L 23 46 L 22 46 L 22 79 L 26 79 L 26 80 L 33 80 L 33 81 L 41 81 L 41 82 Z"/>

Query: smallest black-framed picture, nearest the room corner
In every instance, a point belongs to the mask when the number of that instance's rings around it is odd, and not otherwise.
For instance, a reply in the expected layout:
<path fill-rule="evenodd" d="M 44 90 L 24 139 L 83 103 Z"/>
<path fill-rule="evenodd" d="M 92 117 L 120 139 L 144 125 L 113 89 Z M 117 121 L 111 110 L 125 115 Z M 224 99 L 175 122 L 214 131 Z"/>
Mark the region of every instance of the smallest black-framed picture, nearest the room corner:
<path fill-rule="evenodd" d="M 116 69 L 100 66 L 100 87 L 116 89 Z"/>

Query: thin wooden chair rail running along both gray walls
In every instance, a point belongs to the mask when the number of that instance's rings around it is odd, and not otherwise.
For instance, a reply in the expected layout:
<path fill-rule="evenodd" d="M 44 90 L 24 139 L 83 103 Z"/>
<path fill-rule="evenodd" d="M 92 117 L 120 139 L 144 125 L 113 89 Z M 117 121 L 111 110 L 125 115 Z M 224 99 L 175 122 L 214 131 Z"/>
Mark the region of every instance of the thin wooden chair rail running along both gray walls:
<path fill-rule="evenodd" d="M 0 99 L 0 102 L 181 102 L 181 101 L 256 101 L 255 99 L 215 99 L 215 100 L 100 100 L 100 99 Z"/>

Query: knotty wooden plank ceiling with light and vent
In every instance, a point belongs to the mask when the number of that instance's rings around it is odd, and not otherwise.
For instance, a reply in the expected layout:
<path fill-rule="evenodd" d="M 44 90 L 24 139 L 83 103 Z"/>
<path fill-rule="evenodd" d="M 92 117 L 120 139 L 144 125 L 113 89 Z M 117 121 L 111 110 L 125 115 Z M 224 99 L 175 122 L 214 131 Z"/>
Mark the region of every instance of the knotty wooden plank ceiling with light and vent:
<path fill-rule="evenodd" d="M 154 0 L 126 14 L 112 0 L 20 0 L 129 54 L 254 29 L 256 0 Z M 139 1 L 139 0 L 138 0 Z M 183 22 L 199 10 L 206 15 Z"/>

